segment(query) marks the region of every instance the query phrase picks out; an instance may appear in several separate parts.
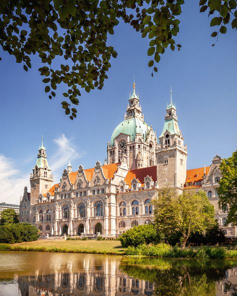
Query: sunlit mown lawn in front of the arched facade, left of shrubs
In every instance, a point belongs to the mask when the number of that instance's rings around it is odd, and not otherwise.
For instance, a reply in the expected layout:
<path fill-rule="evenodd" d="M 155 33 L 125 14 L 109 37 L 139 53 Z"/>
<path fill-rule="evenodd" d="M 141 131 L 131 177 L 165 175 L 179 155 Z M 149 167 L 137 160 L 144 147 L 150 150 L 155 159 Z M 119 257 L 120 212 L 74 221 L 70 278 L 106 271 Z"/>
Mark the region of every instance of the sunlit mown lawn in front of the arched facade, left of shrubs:
<path fill-rule="evenodd" d="M 62 251 L 86 252 L 86 253 L 110 253 L 123 254 L 123 248 L 118 240 L 52 240 L 43 239 L 14 243 L 10 245 L 12 249 L 30 248 L 37 250 L 43 248 L 46 251 L 50 249 L 62 249 Z M 42 250 L 43 250 L 42 249 Z M 40 250 L 40 249 L 38 249 Z M 53 250 L 52 250 L 53 251 Z M 56 251 L 56 250 L 55 250 Z"/>

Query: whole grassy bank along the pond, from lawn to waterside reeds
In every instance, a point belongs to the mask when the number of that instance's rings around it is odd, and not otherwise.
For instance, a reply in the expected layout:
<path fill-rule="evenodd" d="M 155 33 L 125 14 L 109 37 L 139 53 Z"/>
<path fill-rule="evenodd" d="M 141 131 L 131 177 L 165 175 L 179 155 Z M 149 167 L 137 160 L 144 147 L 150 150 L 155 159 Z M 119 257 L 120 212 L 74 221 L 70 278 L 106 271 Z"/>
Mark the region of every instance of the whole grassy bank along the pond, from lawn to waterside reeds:
<path fill-rule="evenodd" d="M 186 247 L 182 249 L 177 246 L 171 247 L 168 244 L 159 243 L 122 248 L 118 240 L 35 240 L 14 244 L 0 243 L 0 250 L 117 254 L 160 258 L 237 258 L 237 247 L 231 245 L 225 247 Z"/>

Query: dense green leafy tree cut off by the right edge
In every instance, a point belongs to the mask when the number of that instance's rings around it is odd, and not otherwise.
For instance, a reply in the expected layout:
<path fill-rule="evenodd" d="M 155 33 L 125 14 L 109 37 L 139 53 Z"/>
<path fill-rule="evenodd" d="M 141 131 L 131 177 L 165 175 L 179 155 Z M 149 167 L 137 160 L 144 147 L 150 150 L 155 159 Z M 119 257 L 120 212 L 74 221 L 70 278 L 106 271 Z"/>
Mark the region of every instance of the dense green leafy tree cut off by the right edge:
<path fill-rule="evenodd" d="M 237 150 L 231 157 L 222 159 L 220 171 L 222 177 L 217 189 L 219 206 L 228 213 L 225 224 L 237 226 Z"/>

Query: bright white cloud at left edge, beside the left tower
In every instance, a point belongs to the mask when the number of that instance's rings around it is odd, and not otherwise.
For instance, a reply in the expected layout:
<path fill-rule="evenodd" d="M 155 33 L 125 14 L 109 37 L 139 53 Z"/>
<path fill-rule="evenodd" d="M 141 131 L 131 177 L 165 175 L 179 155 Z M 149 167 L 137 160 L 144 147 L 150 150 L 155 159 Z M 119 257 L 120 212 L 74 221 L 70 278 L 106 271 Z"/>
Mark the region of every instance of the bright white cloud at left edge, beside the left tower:
<path fill-rule="evenodd" d="M 0 202 L 19 204 L 29 173 L 22 174 L 11 158 L 0 154 Z"/>

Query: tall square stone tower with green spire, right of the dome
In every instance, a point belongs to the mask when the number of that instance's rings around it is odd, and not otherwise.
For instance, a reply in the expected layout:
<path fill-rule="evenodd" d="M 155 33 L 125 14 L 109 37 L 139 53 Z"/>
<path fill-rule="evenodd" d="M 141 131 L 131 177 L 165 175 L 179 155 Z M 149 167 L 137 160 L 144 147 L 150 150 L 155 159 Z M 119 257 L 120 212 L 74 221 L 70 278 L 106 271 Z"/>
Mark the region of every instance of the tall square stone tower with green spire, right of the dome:
<path fill-rule="evenodd" d="M 155 152 L 159 187 L 171 186 L 180 190 L 183 188 L 187 160 L 187 147 L 183 140 L 170 88 L 170 103 L 166 107 L 164 125 L 159 136 L 159 146 Z"/>

